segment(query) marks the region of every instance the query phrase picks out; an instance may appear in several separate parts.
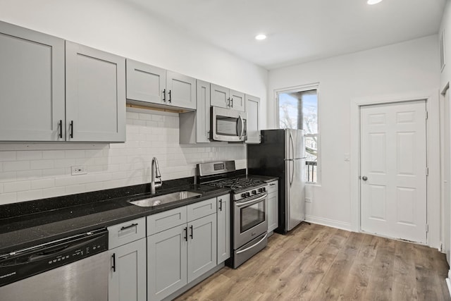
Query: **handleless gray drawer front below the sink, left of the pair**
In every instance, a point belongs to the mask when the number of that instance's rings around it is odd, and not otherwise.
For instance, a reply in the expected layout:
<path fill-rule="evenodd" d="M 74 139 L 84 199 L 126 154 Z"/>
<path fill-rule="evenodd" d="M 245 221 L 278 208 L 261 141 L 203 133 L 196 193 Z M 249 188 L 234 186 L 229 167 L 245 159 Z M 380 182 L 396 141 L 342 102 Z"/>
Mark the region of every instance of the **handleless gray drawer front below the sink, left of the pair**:
<path fill-rule="evenodd" d="M 147 216 L 147 236 L 187 222 L 186 206 Z"/>

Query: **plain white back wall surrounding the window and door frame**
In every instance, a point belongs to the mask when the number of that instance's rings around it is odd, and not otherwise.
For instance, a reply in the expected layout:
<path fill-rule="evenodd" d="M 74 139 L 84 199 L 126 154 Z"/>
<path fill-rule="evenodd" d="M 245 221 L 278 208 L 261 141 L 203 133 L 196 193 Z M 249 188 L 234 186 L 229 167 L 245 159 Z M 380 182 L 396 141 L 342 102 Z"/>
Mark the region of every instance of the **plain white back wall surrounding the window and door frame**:
<path fill-rule="evenodd" d="M 382 94 L 438 91 L 438 36 L 271 70 L 268 112 L 277 112 L 274 90 L 313 82 L 319 82 L 322 176 L 320 186 L 307 189 L 307 196 L 312 198 L 311 204 L 307 203 L 307 219 L 350 229 L 350 162 L 344 159 L 351 153 L 350 101 Z M 275 120 L 274 114 L 268 116 L 268 128 L 276 126 Z"/>

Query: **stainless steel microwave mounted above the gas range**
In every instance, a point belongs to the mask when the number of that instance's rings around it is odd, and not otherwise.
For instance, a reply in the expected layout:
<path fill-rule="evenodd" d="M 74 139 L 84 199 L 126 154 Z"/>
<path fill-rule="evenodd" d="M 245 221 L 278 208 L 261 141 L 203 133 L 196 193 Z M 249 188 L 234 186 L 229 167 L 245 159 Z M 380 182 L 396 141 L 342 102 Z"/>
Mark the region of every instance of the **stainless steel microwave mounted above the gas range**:
<path fill-rule="evenodd" d="M 211 106 L 211 140 L 245 141 L 246 119 L 245 112 Z"/>

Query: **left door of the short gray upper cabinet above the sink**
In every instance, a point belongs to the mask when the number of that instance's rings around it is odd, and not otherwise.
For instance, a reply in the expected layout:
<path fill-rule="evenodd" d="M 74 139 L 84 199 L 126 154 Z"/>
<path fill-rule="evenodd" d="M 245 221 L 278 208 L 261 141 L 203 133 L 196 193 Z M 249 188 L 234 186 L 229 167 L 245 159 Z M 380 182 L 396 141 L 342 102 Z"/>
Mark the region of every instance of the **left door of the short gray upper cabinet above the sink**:
<path fill-rule="evenodd" d="M 127 59 L 127 99 L 164 104 L 166 70 Z"/>

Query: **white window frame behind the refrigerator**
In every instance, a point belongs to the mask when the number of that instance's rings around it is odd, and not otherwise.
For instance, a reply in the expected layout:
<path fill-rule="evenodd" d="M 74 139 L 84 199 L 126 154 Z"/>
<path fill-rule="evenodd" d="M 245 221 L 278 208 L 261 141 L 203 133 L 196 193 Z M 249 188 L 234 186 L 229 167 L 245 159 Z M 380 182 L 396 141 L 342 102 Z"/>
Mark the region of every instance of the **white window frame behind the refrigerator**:
<path fill-rule="evenodd" d="M 321 156 L 321 114 L 320 112 L 320 107 L 321 107 L 321 102 L 320 102 L 320 90 L 319 90 L 319 82 L 313 82 L 311 84 L 307 84 L 307 85 L 299 85 L 299 86 L 294 86 L 294 87 L 285 87 L 285 88 L 280 88 L 280 89 L 275 89 L 274 90 L 274 98 L 276 100 L 276 110 L 274 110 L 275 113 L 275 121 L 276 121 L 276 128 L 280 128 L 280 104 L 279 104 L 279 97 L 278 95 L 280 93 L 292 93 L 292 92 L 304 92 L 304 91 L 309 91 L 309 90 L 316 90 L 316 97 L 318 99 L 317 102 L 317 111 L 316 111 L 316 119 L 318 122 L 318 128 L 316 131 L 316 134 L 305 134 L 305 137 L 314 137 L 316 136 L 317 138 L 317 142 L 316 145 L 318 147 L 318 155 L 317 155 L 317 159 L 316 159 L 316 182 L 307 182 L 306 181 L 306 185 L 311 185 L 311 186 L 321 186 L 321 165 L 322 165 L 322 156 Z"/>

